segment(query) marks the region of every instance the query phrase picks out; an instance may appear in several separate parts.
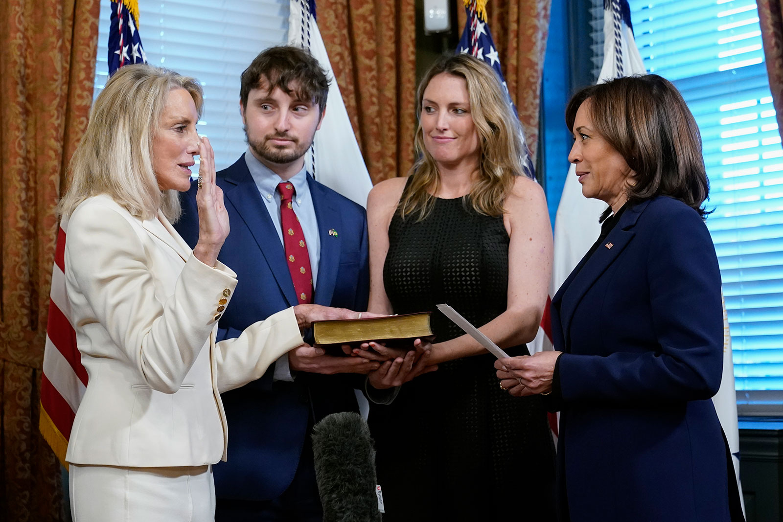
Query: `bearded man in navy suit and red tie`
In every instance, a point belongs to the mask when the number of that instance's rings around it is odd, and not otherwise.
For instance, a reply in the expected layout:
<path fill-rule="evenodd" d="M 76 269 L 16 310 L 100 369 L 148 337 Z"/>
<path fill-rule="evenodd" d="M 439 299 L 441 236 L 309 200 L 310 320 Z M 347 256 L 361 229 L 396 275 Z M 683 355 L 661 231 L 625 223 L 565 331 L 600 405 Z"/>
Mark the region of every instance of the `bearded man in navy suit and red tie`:
<path fill-rule="evenodd" d="M 219 259 L 237 273 L 223 337 L 294 304 L 366 310 L 363 207 L 305 171 L 326 110 L 329 81 L 308 52 L 267 49 L 242 74 L 240 112 L 248 149 L 217 174 L 231 232 Z M 176 228 L 197 242 L 196 188 L 182 196 Z M 312 342 L 312 340 L 310 341 Z M 222 395 L 228 462 L 214 467 L 216 520 L 321 520 L 310 445 L 313 423 L 356 411 L 355 380 L 378 363 L 300 347 L 262 379 Z M 343 375 L 326 375 L 341 373 Z"/>

